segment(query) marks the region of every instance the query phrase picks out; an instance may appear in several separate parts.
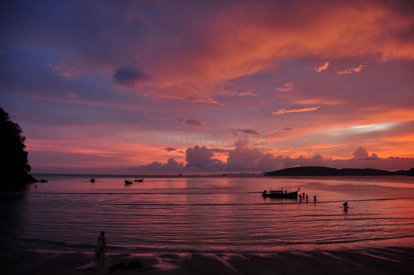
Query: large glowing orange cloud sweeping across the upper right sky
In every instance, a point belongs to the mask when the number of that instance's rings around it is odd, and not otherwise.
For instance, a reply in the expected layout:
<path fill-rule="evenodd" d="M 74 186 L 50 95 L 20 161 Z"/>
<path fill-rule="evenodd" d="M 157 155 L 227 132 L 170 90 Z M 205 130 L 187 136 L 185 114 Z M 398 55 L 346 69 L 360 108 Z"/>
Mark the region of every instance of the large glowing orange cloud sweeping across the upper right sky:
<path fill-rule="evenodd" d="M 408 34 L 413 24 L 413 14 L 400 14 L 379 2 L 320 5 L 312 12 L 308 5 L 284 10 L 237 3 L 214 14 L 195 48 L 150 69 L 159 82 L 177 85 L 253 75 L 279 61 L 306 56 L 413 60 Z"/>

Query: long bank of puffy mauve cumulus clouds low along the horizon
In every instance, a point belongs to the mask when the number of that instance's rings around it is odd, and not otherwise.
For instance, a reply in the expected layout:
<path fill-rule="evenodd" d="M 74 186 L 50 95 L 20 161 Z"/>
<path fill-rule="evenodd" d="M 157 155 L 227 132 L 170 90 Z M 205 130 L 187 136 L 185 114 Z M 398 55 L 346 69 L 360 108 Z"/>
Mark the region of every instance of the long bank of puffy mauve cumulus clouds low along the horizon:
<path fill-rule="evenodd" d="M 142 170 L 167 170 L 170 167 L 177 167 L 182 170 L 190 171 L 273 171 L 295 166 L 327 166 L 334 168 L 373 168 L 384 170 L 410 169 L 414 166 L 414 158 L 388 157 L 378 158 L 376 154 L 368 157 L 368 152 L 363 147 L 359 147 L 352 154 L 351 159 L 333 159 L 315 154 L 313 157 L 274 156 L 269 152 L 261 152 L 257 147 L 236 147 L 233 150 L 216 150 L 218 148 L 207 148 L 198 145 L 188 148 L 186 152 L 186 162 L 178 163 L 174 159 L 169 159 L 166 164 L 153 162 L 148 165 L 136 167 Z M 228 151 L 227 162 L 222 162 L 214 158 L 214 152 Z"/>

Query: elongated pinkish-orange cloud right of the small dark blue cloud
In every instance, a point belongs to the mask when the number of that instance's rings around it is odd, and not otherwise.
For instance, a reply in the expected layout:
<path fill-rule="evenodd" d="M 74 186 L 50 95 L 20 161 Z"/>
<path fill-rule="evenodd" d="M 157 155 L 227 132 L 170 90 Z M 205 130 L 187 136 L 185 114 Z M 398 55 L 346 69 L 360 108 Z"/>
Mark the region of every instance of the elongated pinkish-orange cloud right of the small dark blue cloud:
<path fill-rule="evenodd" d="M 149 92 L 157 96 L 168 97 L 172 99 L 185 99 L 190 102 L 223 105 L 222 103 L 213 100 L 211 97 L 202 94 L 198 90 L 189 86 L 171 86 L 166 88 L 151 89 Z"/>

